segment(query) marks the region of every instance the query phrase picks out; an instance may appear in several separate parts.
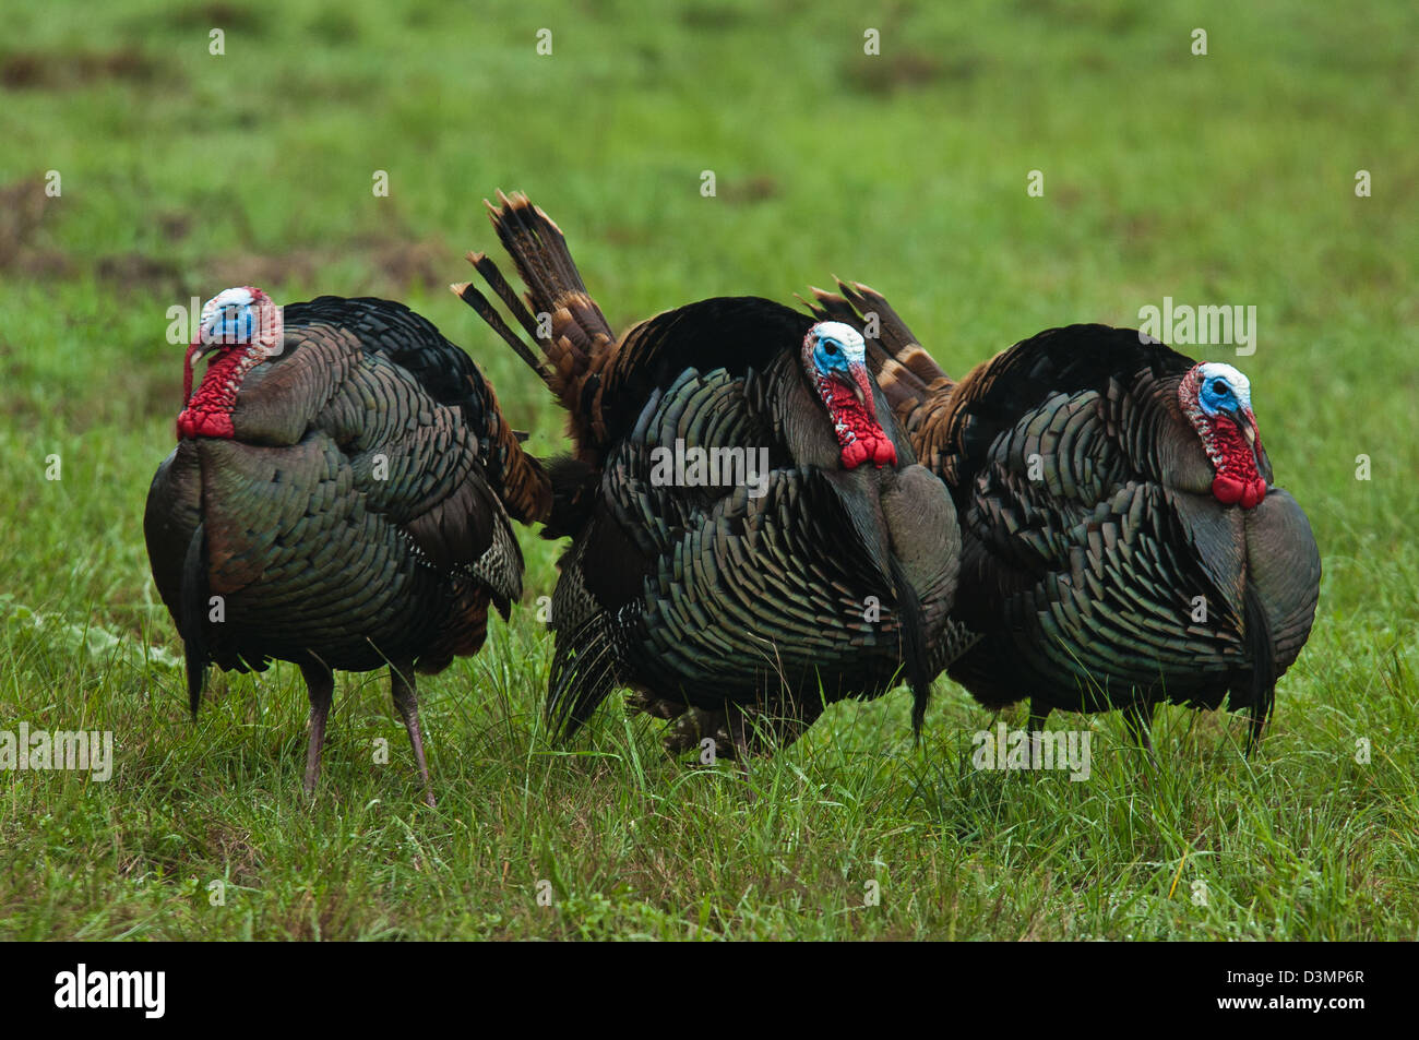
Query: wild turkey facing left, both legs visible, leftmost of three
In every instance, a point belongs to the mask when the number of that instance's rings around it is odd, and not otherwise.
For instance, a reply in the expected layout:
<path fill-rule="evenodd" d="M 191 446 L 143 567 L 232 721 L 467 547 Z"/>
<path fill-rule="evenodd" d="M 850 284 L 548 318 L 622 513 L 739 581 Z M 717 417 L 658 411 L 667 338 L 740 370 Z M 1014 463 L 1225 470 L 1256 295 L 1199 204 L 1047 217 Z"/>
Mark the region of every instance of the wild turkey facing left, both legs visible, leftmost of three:
<path fill-rule="evenodd" d="M 543 519 L 551 505 L 491 383 L 402 304 L 321 297 L 282 311 L 245 287 L 203 308 L 183 399 L 143 533 L 193 717 L 209 663 L 295 663 L 314 793 L 332 670 L 387 664 L 433 804 L 414 673 L 477 653 L 490 602 L 507 617 L 522 593 L 508 516 Z"/>

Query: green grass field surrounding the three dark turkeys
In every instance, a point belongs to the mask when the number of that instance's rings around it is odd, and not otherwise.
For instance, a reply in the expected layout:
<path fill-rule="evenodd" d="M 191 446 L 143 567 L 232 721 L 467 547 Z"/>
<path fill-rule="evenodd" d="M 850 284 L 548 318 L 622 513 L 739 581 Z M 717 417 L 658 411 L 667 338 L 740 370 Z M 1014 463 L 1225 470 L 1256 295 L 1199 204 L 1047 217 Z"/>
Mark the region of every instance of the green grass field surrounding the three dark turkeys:
<path fill-rule="evenodd" d="M 116 748 L 106 783 L 0 772 L 0 938 L 1419 936 L 1419 11 L 477 7 L 7 11 L 0 729 Z M 383 674 L 339 677 L 314 807 L 295 668 L 214 674 L 193 722 L 140 529 L 180 406 L 167 308 L 403 299 L 551 454 L 542 387 L 446 289 L 498 187 L 561 223 L 617 326 L 836 272 L 959 373 L 1165 297 L 1256 305 L 1256 353 L 1210 356 L 1250 376 L 1325 568 L 1263 752 L 1169 708 L 1148 775 L 1117 717 L 1056 715 L 1097 732 L 1088 782 L 978 772 L 995 719 L 945 678 L 920 746 L 898 690 L 748 778 L 612 705 L 556 748 L 528 607 L 556 546 L 531 533 L 524 609 L 421 682 L 437 809 Z"/>

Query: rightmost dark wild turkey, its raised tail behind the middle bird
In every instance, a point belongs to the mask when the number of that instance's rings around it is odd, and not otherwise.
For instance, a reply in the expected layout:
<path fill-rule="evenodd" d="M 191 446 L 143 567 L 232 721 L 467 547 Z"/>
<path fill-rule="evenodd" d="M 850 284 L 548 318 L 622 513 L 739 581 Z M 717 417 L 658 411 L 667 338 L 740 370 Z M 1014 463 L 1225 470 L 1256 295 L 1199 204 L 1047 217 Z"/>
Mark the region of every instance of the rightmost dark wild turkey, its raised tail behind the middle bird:
<path fill-rule="evenodd" d="M 1252 717 L 1315 616 L 1321 562 L 1273 484 L 1250 383 L 1132 329 L 1049 329 L 952 382 L 877 292 L 815 289 L 820 319 L 876 314 L 881 387 L 962 525 L 951 678 L 989 707 L 1121 708 L 1149 748 L 1161 701 Z"/>

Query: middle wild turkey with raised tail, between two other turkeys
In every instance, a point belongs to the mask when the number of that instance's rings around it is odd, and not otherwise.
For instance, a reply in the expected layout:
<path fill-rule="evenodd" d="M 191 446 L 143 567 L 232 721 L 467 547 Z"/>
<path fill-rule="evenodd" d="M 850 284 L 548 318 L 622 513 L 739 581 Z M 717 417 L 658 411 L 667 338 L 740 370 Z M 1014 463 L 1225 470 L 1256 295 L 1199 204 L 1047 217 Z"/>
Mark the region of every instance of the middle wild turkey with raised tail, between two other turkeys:
<path fill-rule="evenodd" d="M 526 305 L 491 260 L 468 258 L 539 345 L 534 367 L 575 443 L 551 467 L 546 533 L 572 536 L 552 602 L 553 732 L 575 732 L 623 685 L 634 707 L 677 721 L 671 751 L 711 738 L 742 756 L 789 743 L 824 702 L 883 692 L 904 663 L 920 726 L 959 542 L 949 497 L 867 375 L 861 336 L 738 297 L 617 341 L 561 230 L 525 196 L 499 200 L 492 224 Z M 478 289 L 454 291 L 529 353 Z M 697 475 L 701 450 L 710 468 Z M 732 453 L 741 470 L 714 470 Z"/>

